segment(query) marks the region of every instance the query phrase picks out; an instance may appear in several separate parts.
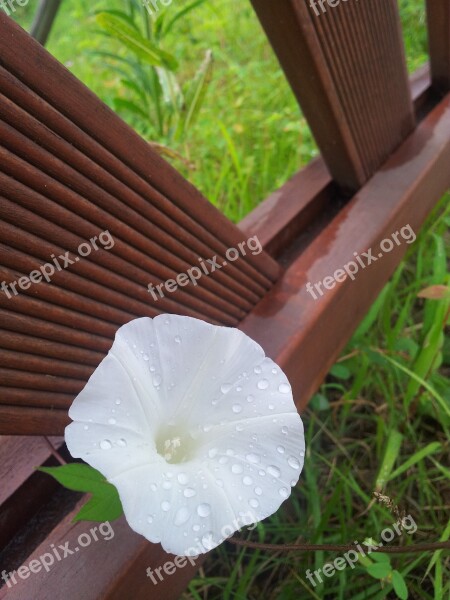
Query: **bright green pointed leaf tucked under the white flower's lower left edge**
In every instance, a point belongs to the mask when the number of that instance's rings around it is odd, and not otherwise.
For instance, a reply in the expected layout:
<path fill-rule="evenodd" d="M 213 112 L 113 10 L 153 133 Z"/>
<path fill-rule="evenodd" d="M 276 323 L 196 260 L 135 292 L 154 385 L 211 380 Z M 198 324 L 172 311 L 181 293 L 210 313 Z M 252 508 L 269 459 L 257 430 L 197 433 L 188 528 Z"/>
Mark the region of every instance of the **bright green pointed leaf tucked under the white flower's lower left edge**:
<path fill-rule="evenodd" d="M 113 521 L 123 513 L 117 489 L 96 469 L 72 463 L 62 467 L 40 467 L 39 471 L 51 475 L 69 490 L 92 494 L 74 521 Z"/>

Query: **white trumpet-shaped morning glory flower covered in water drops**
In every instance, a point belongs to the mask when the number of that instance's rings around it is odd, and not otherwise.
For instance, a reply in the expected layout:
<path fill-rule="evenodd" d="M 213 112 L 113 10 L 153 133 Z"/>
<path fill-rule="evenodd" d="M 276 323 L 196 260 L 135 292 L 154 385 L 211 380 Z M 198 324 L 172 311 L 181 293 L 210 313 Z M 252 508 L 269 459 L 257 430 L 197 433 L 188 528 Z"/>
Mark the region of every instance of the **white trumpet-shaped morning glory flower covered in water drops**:
<path fill-rule="evenodd" d="M 281 369 L 242 331 L 191 317 L 121 327 L 69 416 L 72 456 L 116 486 L 132 529 L 177 555 L 274 513 L 303 465 Z"/>

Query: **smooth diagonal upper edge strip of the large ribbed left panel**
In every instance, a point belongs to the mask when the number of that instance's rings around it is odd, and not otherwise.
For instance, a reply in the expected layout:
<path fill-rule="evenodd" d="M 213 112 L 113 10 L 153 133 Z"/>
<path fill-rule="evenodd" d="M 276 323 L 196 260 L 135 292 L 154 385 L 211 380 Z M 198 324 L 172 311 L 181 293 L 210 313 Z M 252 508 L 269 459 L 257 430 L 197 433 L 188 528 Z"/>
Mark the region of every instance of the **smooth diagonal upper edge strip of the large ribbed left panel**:
<path fill-rule="evenodd" d="M 16 51 L 18 46 L 21 52 Z M 0 14 L 0 64 L 108 149 L 128 167 L 127 171 L 134 171 L 227 248 L 244 241 L 238 228 L 194 186 L 3 13 Z M 278 264 L 264 253 L 247 255 L 242 260 L 242 269 L 257 281 L 275 281 L 280 271 Z"/>

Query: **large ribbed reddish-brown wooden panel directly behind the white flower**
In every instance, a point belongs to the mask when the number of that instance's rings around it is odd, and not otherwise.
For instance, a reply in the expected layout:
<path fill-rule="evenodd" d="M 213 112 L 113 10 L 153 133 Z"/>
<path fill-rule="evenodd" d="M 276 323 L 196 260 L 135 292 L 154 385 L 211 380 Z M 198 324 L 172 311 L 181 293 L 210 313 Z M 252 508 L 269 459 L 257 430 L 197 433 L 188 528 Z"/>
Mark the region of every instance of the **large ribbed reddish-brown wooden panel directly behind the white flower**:
<path fill-rule="evenodd" d="M 169 312 L 236 325 L 278 276 L 265 252 L 227 261 L 240 230 L 2 12 L 0 140 L 0 281 L 67 251 L 73 263 L 0 292 L 0 433 L 61 431 L 121 324 Z M 80 258 L 104 231 L 113 247 L 104 234 Z M 226 266 L 198 285 L 149 293 L 214 256 Z"/>

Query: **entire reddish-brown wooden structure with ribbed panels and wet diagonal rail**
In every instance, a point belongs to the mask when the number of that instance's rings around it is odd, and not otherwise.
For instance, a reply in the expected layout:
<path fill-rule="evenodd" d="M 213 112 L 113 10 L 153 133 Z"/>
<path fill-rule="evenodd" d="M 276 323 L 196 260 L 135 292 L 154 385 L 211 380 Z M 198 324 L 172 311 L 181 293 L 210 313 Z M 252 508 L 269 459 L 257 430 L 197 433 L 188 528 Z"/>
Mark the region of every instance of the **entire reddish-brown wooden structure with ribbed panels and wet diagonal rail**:
<path fill-rule="evenodd" d="M 66 251 L 75 260 L 101 231 L 115 240 L 49 283 L 0 292 L 2 569 L 89 530 L 71 523 L 79 497 L 34 467 L 55 464 L 55 448 L 69 458 L 58 437 L 67 409 L 121 324 L 172 312 L 238 326 L 286 371 L 301 410 L 406 246 L 317 300 L 306 284 L 406 224 L 417 232 L 450 187 L 449 0 L 427 2 L 430 63 L 411 79 L 395 0 L 349 0 L 320 16 L 299 0 L 252 3 L 321 157 L 238 226 L 0 14 L 0 281 Z M 260 254 L 157 302 L 148 293 L 255 235 Z M 145 569 L 170 557 L 123 519 L 113 527 L 112 541 L 18 578 L 0 597 L 179 597 L 197 567 L 154 591 Z"/>

